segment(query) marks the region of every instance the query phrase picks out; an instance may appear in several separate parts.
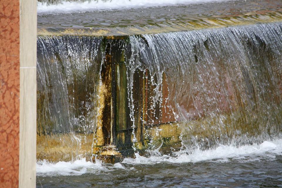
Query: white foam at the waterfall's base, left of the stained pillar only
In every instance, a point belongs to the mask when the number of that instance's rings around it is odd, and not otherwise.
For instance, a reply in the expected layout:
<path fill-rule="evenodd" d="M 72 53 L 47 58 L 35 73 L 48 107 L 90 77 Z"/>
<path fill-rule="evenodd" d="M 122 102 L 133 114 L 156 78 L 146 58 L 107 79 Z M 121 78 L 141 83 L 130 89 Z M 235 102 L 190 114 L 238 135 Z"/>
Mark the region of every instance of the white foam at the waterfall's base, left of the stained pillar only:
<path fill-rule="evenodd" d="M 74 162 L 57 162 L 51 163 L 46 160 L 38 161 L 36 163 L 36 174 L 39 176 L 78 176 L 85 173 L 97 173 L 100 171 L 107 171 L 102 163 L 97 161 L 96 163 L 82 160 L 76 160 Z"/>

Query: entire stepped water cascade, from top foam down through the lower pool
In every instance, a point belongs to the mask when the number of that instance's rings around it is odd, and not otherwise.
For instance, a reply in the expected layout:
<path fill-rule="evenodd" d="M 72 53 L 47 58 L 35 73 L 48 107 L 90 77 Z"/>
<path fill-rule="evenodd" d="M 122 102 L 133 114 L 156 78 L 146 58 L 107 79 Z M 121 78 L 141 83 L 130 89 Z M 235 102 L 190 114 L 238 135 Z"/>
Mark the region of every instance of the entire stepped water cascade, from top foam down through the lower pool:
<path fill-rule="evenodd" d="M 38 3 L 39 187 L 281 185 L 282 1 L 62 2 Z"/>

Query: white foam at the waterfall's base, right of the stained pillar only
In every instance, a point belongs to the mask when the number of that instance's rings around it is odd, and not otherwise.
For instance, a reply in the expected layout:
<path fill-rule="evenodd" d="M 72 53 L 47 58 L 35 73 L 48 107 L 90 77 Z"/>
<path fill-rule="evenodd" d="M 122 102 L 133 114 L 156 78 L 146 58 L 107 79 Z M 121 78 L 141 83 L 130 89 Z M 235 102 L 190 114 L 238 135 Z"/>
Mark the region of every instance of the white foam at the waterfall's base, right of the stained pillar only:
<path fill-rule="evenodd" d="M 250 162 L 260 159 L 272 160 L 275 155 L 282 155 L 282 140 L 274 140 L 273 142 L 265 141 L 260 145 L 244 145 L 240 147 L 221 145 L 216 149 L 210 150 L 194 150 L 188 154 L 185 151 L 176 152 L 175 156 L 151 156 L 142 157 L 136 155 L 135 159 L 125 158 L 122 163 L 127 164 L 156 164 L 161 162 L 169 163 L 186 163 L 215 161 L 226 162 L 230 160 L 240 160 L 241 162 Z"/>

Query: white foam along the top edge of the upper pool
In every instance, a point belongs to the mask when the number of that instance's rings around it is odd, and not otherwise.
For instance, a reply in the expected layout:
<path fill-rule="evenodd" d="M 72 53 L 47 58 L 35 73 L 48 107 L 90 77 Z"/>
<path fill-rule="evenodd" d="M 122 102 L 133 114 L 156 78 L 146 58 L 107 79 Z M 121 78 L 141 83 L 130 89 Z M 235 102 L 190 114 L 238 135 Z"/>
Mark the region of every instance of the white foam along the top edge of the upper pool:
<path fill-rule="evenodd" d="M 47 5 L 46 3 L 37 2 L 37 12 L 73 12 L 73 11 L 86 11 L 86 10 L 103 10 L 103 9 L 129 9 L 138 7 L 151 7 L 151 6 L 172 6 L 177 4 L 192 4 L 204 3 L 212 1 L 227 1 L 227 0 L 97 0 L 86 2 L 68 2 L 63 1 L 57 5 Z"/>

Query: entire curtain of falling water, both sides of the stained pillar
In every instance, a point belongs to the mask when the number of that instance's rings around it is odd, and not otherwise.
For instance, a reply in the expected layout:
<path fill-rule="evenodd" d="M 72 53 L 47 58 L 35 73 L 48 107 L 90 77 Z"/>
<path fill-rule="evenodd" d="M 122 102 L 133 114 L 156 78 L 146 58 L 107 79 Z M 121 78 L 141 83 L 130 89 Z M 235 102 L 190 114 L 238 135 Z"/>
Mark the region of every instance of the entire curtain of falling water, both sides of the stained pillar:
<path fill-rule="evenodd" d="M 103 146 L 101 134 L 124 156 L 273 139 L 282 122 L 281 36 L 278 22 L 114 40 L 38 37 L 38 159 L 89 157 Z M 116 88 L 109 92 L 116 102 L 101 111 L 103 84 Z M 115 137 L 105 117 L 114 118 Z"/>

